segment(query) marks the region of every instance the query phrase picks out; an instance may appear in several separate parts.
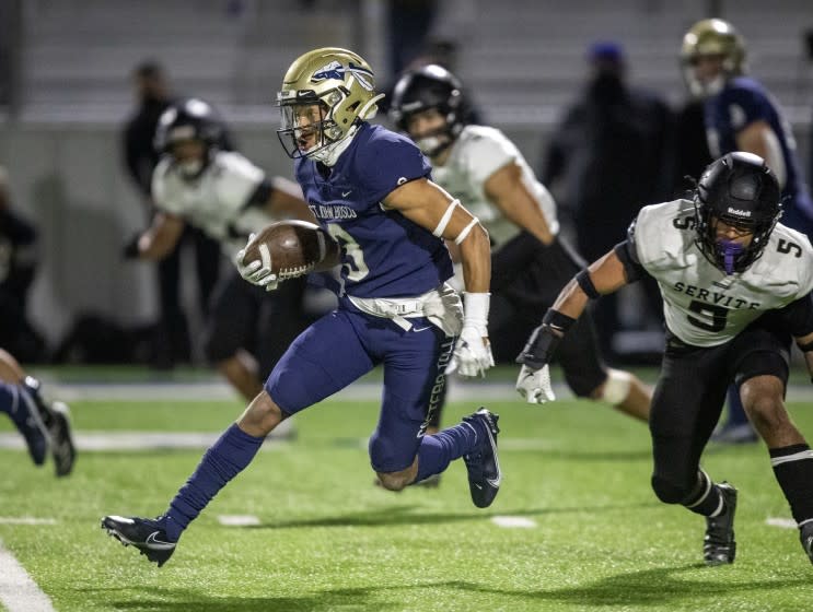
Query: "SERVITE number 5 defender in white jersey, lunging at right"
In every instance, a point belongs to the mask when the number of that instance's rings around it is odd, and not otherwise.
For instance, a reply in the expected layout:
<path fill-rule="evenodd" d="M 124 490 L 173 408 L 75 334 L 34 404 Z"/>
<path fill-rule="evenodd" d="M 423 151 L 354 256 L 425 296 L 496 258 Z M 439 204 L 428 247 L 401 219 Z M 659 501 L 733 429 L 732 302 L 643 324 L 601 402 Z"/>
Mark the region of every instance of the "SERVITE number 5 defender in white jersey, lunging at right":
<path fill-rule="evenodd" d="M 734 152 L 715 161 L 694 201 L 641 210 L 627 240 L 565 287 L 518 360 L 544 379 L 590 298 L 644 273 L 658 281 L 666 350 L 650 415 L 652 489 L 662 502 L 706 517 L 708 565 L 733 563 L 736 553 L 737 492 L 715 484 L 699 466 L 733 381 L 813 562 L 813 452 L 783 402 L 791 337 L 813 374 L 813 248 L 777 224 L 780 198 L 762 157 Z M 549 385 L 544 395 L 554 399 Z"/>

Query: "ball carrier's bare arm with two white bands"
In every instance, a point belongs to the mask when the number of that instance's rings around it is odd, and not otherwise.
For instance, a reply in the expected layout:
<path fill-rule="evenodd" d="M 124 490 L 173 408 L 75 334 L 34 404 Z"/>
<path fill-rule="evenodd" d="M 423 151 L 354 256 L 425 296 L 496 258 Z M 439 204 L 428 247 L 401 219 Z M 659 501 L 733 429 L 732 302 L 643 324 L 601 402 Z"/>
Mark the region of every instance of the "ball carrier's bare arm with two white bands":
<path fill-rule="evenodd" d="M 466 292 L 488 293 L 491 279 L 488 233 L 472 213 L 455 202 L 443 188 L 426 178 L 410 180 L 384 199 L 384 205 L 399 211 L 421 227 L 430 232 L 440 228 L 441 237 L 460 247 Z M 451 216 L 446 221 L 450 209 Z"/>

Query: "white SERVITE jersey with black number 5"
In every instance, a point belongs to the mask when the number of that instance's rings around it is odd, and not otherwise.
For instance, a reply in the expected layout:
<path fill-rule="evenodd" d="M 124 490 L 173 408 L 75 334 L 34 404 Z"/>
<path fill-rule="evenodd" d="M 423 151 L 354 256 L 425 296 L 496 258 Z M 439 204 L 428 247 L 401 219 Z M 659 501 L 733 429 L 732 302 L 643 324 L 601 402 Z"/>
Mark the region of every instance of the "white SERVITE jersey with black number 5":
<path fill-rule="evenodd" d="M 687 344 L 722 344 L 766 310 L 813 290 L 813 247 L 785 225 L 777 224 L 762 257 L 735 274 L 712 264 L 695 239 L 689 200 L 644 207 L 632 233 L 639 262 L 660 285 L 666 327 Z"/>

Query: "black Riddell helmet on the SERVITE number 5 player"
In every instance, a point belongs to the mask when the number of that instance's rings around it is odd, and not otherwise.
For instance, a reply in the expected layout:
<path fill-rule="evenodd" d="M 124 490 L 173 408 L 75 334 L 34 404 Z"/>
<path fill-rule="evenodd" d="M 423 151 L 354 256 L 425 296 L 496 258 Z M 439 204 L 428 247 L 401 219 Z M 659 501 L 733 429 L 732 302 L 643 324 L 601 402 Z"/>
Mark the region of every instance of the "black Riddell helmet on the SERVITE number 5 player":
<path fill-rule="evenodd" d="M 782 213 L 781 189 L 765 161 L 753 153 L 728 153 L 709 164 L 695 189 L 697 246 L 727 274 L 756 261 Z M 722 221 L 753 234 L 742 246 L 717 237 Z"/>

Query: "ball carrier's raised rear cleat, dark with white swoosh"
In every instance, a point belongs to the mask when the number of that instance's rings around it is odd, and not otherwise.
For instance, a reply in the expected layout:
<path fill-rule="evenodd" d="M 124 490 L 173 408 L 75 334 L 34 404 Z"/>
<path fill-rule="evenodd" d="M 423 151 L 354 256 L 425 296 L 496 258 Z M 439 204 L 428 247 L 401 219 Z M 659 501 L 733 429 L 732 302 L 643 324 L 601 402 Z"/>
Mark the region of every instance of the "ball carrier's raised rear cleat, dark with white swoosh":
<path fill-rule="evenodd" d="M 487 508 L 491 505 L 497 493 L 500 490 L 502 472 L 500 471 L 500 461 L 497 458 L 497 434 L 500 428 L 497 426 L 499 415 L 480 408 L 474 414 L 464 416 L 465 423 L 472 424 L 478 435 L 485 429 L 486 437 L 478 440 L 478 446 L 468 455 L 463 456 L 468 471 L 468 490 L 472 493 L 472 502 L 478 508 Z M 481 427 L 475 423 L 479 422 Z"/>

